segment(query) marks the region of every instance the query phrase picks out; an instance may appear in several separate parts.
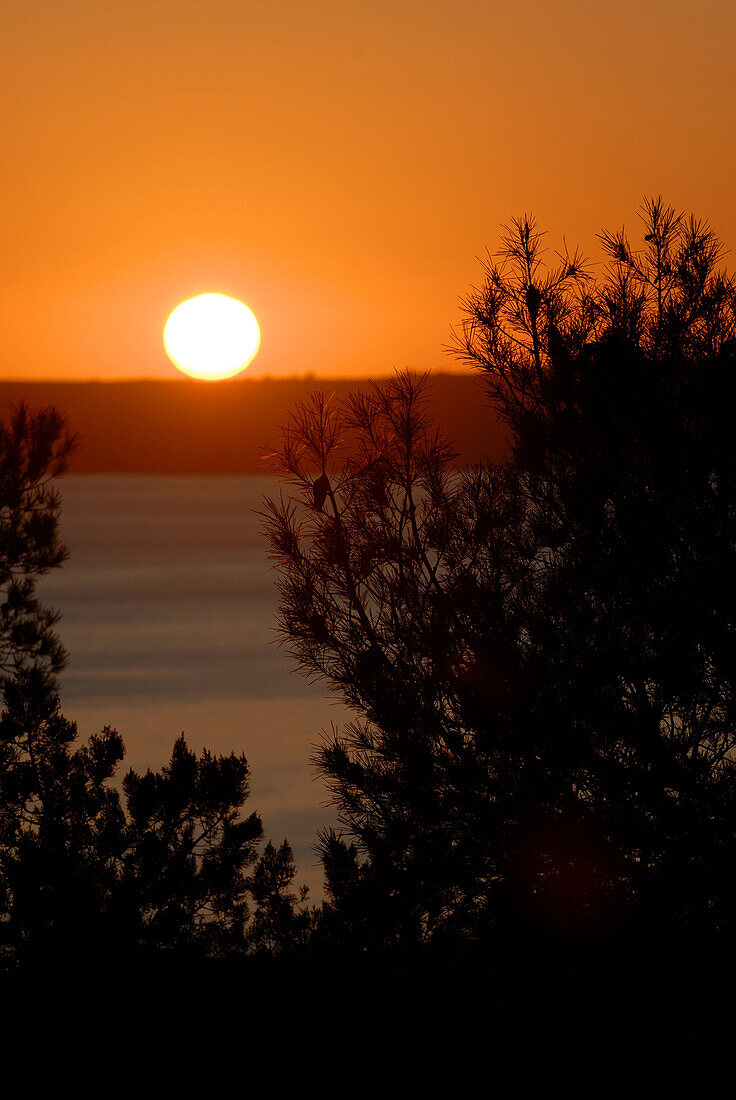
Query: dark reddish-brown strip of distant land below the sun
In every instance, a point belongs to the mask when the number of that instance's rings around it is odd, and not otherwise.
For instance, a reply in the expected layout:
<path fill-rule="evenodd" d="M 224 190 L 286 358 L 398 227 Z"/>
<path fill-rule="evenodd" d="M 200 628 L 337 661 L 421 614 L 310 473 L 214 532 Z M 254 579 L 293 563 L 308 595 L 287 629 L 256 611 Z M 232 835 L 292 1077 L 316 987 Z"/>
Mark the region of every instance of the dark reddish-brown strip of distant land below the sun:
<path fill-rule="evenodd" d="M 70 473 L 264 474 L 298 402 L 317 389 L 340 400 L 369 386 L 310 377 L 0 382 L 0 418 L 19 402 L 55 405 L 79 440 Z M 503 427 L 475 375 L 432 374 L 428 410 L 446 427 L 459 464 L 502 453 Z"/>

